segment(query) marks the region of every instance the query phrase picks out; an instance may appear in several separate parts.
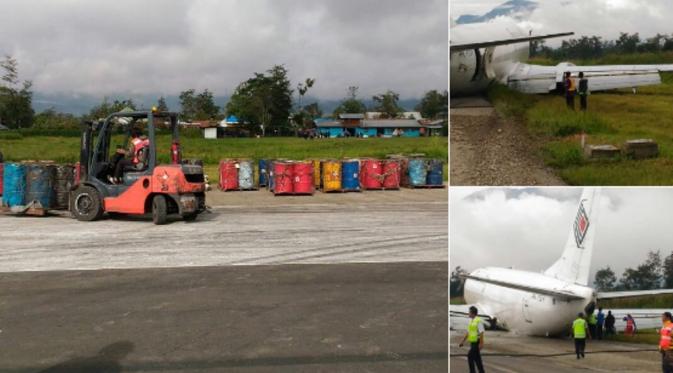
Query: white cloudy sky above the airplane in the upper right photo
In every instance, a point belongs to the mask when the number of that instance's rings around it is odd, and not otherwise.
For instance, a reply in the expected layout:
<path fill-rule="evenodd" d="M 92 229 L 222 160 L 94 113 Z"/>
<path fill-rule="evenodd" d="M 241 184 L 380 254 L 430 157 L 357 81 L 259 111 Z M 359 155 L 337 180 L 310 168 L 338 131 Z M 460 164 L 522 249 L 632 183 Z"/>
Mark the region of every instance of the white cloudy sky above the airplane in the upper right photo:
<path fill-rule="evenodd" d="M 451 18 L 481 15 L 505 0 L 451 0 Z M 522 24 L 537 33 L 574 31 L 576 36 L 615 39 L 619 32 L 650 37 L 670 34 L 673 0 L 538 0 L 538 8 Z M 549 41 L 550 45 L 560 43 Z"/>

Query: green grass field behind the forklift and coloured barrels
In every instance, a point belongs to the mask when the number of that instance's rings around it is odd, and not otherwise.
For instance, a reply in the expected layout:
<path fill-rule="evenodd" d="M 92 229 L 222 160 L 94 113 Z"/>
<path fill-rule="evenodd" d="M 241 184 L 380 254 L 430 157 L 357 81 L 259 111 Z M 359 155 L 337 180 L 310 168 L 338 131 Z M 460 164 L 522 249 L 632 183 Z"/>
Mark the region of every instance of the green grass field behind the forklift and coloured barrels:
<path fill-rule="evenodd" d="M 115 137 L 112 144 L 121 144 Z M 217 164 L 224 158 L 258 159 L 310 159 L 310 158 L 382 158 L 387 154 L 424 153 L 427 157 L 448 160 L 447 137 L 421 138 L 370 138 L 370 139 L 316 139 L 304 140 L 291 137 L 226 138 L 206 140 L 197 137 L 181 139 L 183 157 L 203 160 L 210 181 L 216 181 Z M 168 162 L 170 137 L 158 136 L 158 157 Z M 165 151 L 161 151 L 164 149 Z M 0 137 L 0 151 L 5 161 L 52 160 L 74 163 L 79 158 L 78 137 L 13 136 Z M 444 170 L 445 179 L 448 172 Z"/>

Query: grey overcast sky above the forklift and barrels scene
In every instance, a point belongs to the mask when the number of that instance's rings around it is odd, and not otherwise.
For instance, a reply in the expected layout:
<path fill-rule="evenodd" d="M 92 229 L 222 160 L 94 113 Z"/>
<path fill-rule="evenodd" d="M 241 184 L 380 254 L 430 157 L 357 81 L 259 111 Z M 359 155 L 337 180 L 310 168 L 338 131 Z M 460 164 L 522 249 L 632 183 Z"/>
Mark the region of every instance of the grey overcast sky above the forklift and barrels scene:
<path fill-rule="evenodd" d="M 5 0 L 0 54 L 45 93 L 228 95 L 285 64 L 312 95 L 447 86 L 446 0 Z"/>

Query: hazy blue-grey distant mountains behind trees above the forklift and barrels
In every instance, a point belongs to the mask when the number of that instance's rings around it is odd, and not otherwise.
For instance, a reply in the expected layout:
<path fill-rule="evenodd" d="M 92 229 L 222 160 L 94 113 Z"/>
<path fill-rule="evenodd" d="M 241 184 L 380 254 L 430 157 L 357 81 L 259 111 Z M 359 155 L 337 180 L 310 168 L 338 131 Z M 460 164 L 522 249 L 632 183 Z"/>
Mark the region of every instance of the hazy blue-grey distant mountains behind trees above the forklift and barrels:
<path fill-rule="evenodd" d="M 149 109 L 153 105 L 156 105 L 159 95 L 123 95 L 115 94 L 107 96 L 108 100 L 114 101 L 125 100 L 127 98 L 132 99 L 139 108 Z M 227 102 L 229 102 L 229 96 L 215 96 L 215 104 L 224 107 Z M 74 115 L 82 115 L 88 113 L 91 108 L 100 104 L 103 101 L 103 97 L 94 96 L 94 95 L 81 95 L 81 94 L 71 94 L 71 93 L 51 93 L 45 94 L 40 92 L 35 92 L 33 95 L 33 110 L 36 113 L 43 112 L 47 109 L 54 108 L 54 110 L 61 113 L 70 113 Z M 367 107 L 372 107 L 374 102 L 369 99 L 363 100 Z M 336 109 L 341 100 L 334 99 L 319 99 L 315 97 L 305 97 L 304 104 L 310 104 L 312 102 L 318 102 L 320 109 L 326 115 L 331 114 L 334 109 Z M 400 99 L 399 105 L 407 111 L 413 111 L 416 105 L 420 102 L 420 98 L 406 98 Z M 166 96 L 166 104 L 168 108 L 172 111 L 180 110 L 180 98 L 178 96 Z"/>

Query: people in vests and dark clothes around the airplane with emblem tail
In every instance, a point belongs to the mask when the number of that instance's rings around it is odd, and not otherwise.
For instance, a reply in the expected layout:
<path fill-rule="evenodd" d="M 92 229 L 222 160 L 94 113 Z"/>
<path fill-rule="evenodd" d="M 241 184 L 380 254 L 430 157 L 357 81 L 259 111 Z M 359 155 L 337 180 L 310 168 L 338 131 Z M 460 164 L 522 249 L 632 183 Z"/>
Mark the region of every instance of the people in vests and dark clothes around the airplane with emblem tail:
<path fill-rule="evenodd" d="M 484 347 L 485 327 L 481 318 L 478 316 L 477 308 L 471 306 L 468 316 L 470 318 L 467 326 L 467 333 L 463 337 L 459 346 L 463 347 L 465 342 L 469 342 L 470 351 L 467 353 L 467 362 L 470 373 L 484 373 L 484 364 L 481 359 L 481 350 Z M 626 322 L 624 328 L 625 335 L 635 335 L 636 322 L 630 314 L 623 318 Z M 659 330 L 659 352 L 661 354 L 661 365 L 663 373 L 673 373 L 673 316 L 670 312 L 664 312 L 661 315 L 662 327 Z M 585 317 L 583 312 L 578 313 L 577 318 L 572 323 L 572 336 L 575 343 L 575 355 L 577 359 L 583 359 L 585 355 L 587 338 L 601 340 L 603 335 L 614 335 L 615 317 L 612 311 L 607 315 L 603 313 L 603 308 L 598 309 L 598 313 L 591 312 Z"/>

